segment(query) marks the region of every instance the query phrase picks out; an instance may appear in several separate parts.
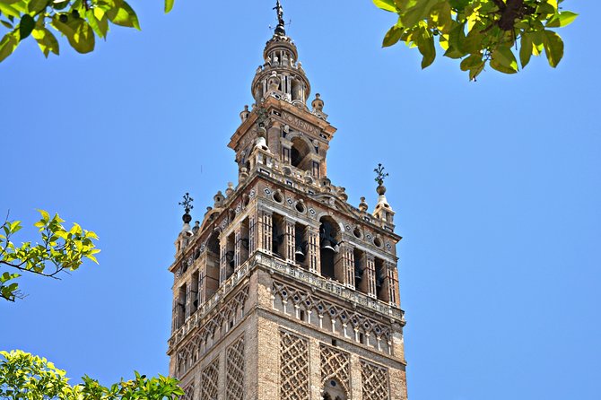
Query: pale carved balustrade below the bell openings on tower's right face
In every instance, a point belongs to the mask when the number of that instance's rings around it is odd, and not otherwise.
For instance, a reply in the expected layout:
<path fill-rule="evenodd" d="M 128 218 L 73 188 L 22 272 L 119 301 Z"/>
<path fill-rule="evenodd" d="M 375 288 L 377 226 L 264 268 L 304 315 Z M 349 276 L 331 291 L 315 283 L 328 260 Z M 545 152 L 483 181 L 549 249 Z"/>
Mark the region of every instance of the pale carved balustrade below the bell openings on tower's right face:
<path fill-rule="evenodd" d="M 405 322 L 405 318 L 403 317 L 404 312 L 402 309 L 398 309 L 395 306 L 375 300 L 369 297 L 367 294 L 349 289 L 342 283 L 335 283 L 334 281 L 327 280 L 318 274 L 312 274 L 303 268 L 284 263 L 283 261 L 276 260 L 274 257 L 259 252 L 257 252 L 257 255 L 255 256 L 255 262 L 258 265 L 263 265 L 274 270 L 274 272 L 291 276 L 303 283 L 308 283 L 311 288 L 334 293 L 336 296 L 344 300 L 349 300 L 367 309 L 377 311 L 380 315 L 394 318 L 401 323 Z"/>

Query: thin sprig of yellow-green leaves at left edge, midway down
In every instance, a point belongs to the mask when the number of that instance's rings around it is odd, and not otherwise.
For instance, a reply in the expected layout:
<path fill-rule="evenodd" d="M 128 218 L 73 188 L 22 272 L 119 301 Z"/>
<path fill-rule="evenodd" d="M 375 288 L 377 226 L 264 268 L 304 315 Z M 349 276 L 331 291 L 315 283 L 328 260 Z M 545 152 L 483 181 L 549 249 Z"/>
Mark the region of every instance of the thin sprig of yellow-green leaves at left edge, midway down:
<path fill-rule="evenodd" d="M 41 219 L 34 224 L 39 229 L 41 242 L 32 245 L 24 242 L 16 246 L 13 235 L 22 230 L 20 221 L 9 221 L 0 226 L 0 298 L 14 301 L 24 295 L 15 282 L 24 273 L 37 274 L 48 278 L 60 279 L 61 272 L 77 270 L 85 258 L 98 264 L 93 240 L 98 236 L 91 230 L 83 230 L 77 223 L 70 230 L 62 225 L 65 222 L 58 214 L 50 217 L 46 211 L 39 210 Z M 1 271 L 10 268 L 13 272 Z M 16 271 L 16 272 L 15 272 Z"/>

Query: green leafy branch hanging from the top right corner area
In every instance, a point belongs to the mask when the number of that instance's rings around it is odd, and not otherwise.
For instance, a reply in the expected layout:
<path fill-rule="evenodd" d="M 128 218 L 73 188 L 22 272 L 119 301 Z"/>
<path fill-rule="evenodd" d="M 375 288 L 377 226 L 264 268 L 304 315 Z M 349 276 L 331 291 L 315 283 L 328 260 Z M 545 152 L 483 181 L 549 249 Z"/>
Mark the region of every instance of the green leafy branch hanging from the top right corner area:
<path fill-rule="evenodd" d="M 398 15 L 382 46 L 399 41 L 422 54 L 422 68 L 436 58 L 435 38 L 444 57 L 461 59 L 470 80 L 490 65 L 504 74 L 518 72 L 532 56 L 546 55 L 556 67 L 563 57 L 562 38 L 553 28 L 574 22 L 578 14 L 562 11 L 563 0 L 373 0 Z M 518 57 L 516 56 L 518 54 Z"/>

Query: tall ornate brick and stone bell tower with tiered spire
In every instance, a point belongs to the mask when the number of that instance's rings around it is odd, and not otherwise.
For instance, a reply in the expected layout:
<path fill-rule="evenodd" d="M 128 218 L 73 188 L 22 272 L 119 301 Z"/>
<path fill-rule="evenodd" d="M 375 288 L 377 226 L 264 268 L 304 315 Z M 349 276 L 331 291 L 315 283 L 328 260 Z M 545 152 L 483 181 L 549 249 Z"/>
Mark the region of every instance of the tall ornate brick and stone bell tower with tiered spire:
<path fill-rule="evenodd" d="M 176 240 L 170 375 L 187 400 L 405 400 L 394 211 L 327 178 L 335 127 L 278 25 L 229 147 L 239 177 Z M 339 166 L 338 168 L 344 168 Z"/>

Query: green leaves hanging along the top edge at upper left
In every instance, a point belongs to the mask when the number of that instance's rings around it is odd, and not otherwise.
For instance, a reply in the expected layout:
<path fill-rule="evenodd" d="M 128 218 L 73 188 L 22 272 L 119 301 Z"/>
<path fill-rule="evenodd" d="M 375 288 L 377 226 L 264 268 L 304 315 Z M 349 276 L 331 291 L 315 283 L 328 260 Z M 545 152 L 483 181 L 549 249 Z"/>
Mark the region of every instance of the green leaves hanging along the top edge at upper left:
<path fill-rule="evenodd" d="M 173 3 L 165 0 L 165 13 Z M 30 36 L 45 57 L 58 55 L 53 30 L 65 36 L 78 53 L 90 53 L 97 36 L 107 38 L 109 22 L 140 30 L 137 15 L 125 0 L 0 0 L 0 30 L 9 30 L 0 40 L 0 62 Z"/>

